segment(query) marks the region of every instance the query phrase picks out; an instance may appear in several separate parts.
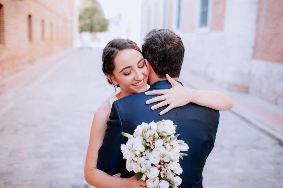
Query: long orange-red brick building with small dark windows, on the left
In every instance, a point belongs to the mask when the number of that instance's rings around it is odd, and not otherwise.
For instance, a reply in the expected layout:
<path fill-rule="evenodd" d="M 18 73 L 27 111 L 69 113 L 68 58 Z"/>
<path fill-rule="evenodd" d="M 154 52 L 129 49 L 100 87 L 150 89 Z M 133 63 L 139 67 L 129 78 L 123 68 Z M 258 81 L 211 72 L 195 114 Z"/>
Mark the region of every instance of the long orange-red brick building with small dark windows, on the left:
<path fill-rule="evenodd" d="M 0 80 L 70 47 L 73 14 L 73 0 L 0 0 Z"/>

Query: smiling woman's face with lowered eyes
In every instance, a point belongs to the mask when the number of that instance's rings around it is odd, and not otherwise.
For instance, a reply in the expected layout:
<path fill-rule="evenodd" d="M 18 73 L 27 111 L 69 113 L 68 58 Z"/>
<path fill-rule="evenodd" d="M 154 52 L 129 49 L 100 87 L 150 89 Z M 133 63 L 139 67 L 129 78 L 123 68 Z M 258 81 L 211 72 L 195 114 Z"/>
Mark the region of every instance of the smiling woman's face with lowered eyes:
<path fill-rule="evenodd" d="M 128 93 L 140 93 L 147 90 L 148 70 L 142 54 L 134 49 L 120 51 L 114 58 L 113 76 Z"/>

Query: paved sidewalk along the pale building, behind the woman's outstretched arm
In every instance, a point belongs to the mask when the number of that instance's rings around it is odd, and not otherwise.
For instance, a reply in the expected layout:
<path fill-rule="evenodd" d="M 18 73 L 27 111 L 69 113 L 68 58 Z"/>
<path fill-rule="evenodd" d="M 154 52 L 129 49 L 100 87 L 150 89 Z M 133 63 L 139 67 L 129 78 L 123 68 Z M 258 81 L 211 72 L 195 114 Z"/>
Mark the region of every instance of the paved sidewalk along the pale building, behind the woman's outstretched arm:
<path fill-rule="evenodd" d="M 186 70 L 186 69 L 185 69 Z M 249 121 L 283 145 L 283 108 L 263 99 L 225 90 L 192 73 L 181 72 L 180 81 L 201 90 L 217 90 L 229 96 L 234 103 L 231 111 Z"/>

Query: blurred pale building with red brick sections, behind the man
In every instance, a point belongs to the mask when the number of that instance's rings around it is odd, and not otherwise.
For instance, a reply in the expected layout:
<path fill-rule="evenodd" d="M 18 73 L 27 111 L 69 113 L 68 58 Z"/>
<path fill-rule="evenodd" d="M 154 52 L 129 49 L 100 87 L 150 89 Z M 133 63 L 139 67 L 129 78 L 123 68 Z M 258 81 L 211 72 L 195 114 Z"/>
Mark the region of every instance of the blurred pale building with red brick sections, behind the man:
<path fill-rule="evenodd" d="M 128 4 L 135 6 L 122 13 L 127 20 L 122 22 L 123 38 L 142 44 L 151 29 L 171 29 L 185 45 L 183 69 L 222 88 L 283 106 L 282 1 L 141 0 Z"/>

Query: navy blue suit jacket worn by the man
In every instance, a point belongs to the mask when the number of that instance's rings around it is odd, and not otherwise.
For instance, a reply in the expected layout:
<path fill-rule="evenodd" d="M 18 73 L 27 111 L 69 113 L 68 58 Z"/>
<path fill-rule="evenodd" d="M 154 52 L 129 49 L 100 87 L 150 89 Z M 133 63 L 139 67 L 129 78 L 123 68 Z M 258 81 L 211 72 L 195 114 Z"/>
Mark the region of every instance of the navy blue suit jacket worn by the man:
<path fill-rule="evenodd" d="M 171 84 L 167 80 L 154 83 L 149 90 L 168 89 Z M 158 95 L 156 95 L 158 96 Z M 215 136 L 219 122 L 219 111 L 204 106 L 189 103 L 185 106 L 174 108 L 164 115 L 159 112 L 167 106 L 151 110 L 146 100 L 155 95 L 137 93 L 121 98 L 113 103 L 110 120 L 107 122 L 106 134 L 98 153 L 98 169 L 107 174 L 114 175 L 121 172 L 121 177 L 129 178 L 134 172 L 126 169 L 126 160 L 120 150 L 121 144 L 127 142 L 127 138 L 121 132 L 133 134 L 134 130 L 142 122 L 154 122 L 169 119 L 178 125 L 176 134 L 180 133 L 179 140 L 184 140 L 189 150 L 185 153 L 184 160 L 180 160 L 183 173 L 180 174 L 182 184 L 180 188 L 202 188 L 203 167 L 209 153 L 213 149 Z M 159 103 L 159 102 L 157 102 Z M 156 104 L 157 104 L 156 103 Z"/>

